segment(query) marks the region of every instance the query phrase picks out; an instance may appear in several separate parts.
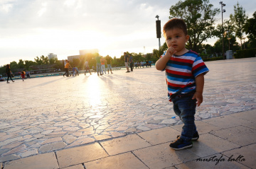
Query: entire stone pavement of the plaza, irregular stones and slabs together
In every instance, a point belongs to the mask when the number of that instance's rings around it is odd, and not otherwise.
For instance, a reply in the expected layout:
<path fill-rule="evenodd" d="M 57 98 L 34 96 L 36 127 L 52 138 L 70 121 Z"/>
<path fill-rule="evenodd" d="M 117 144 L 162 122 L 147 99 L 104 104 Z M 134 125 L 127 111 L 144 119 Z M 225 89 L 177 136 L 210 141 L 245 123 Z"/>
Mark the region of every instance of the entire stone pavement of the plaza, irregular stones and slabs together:
<path fill-rule="evenodd" d="M 183 151 L 154 67 L 1 82 L 0 168 L 256 168 L 255 63 L 206 62 L 200 139 Z"/>

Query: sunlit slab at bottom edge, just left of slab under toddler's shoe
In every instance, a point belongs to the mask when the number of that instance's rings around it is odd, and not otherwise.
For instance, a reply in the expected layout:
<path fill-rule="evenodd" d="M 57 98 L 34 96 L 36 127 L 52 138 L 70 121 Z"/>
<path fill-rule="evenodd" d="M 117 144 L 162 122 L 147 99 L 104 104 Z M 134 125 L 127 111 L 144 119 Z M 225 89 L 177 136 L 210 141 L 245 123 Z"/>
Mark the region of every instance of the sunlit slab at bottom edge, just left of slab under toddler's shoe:
<path fill-rule="evenodd" d="M 146 165 L 132 153 L 122 153 L 116 156 L 101 158 L 97 161 L 84 163 L 86 169 L 147 169 Z"/>

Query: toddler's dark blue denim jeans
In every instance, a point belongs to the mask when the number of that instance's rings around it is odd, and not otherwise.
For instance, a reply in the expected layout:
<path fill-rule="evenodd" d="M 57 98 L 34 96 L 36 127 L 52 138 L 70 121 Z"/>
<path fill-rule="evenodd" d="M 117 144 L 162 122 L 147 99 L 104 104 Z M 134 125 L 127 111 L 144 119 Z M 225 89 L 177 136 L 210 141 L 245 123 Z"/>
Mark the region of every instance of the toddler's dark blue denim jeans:
<path fill-rule="evenodd" d="M 195 114 L 196 114 L 196 99 L 193 95 L 172 98 L 174 103 L 174 112 L 180 117 L 183 122 L 181 139 L 191 141 L 193 134 L 196 133 Z"/>

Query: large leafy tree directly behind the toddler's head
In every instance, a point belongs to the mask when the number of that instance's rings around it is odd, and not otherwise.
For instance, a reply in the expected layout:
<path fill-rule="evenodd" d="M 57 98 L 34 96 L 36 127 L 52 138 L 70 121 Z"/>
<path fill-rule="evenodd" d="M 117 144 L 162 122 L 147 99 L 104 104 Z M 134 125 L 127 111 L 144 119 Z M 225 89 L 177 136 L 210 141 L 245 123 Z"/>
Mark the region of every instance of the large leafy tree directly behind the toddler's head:
<path fill-rule="evenodd" d="M 185 0 L 170 8 L 169 18 L 182 18 L 188 28 L 187 47 L 198 52 L 203 41 L 215 36 L 215 18 L 220 13 L 219 8 L 213 8 L 209 0 Z"/>

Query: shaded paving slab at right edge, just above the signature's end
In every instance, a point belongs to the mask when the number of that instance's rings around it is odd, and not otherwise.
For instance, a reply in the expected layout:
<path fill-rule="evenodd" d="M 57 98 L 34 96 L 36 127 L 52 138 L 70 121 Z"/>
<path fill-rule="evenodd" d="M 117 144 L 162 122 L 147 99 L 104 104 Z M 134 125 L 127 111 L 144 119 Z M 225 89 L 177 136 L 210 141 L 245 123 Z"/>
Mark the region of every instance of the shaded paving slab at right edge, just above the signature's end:
<path fill-rule="evenodd" d="M 228 129 L 213 131 L 210 133 L 240 146 L 246 146 L 256 142 L 256 129 L 243 126 L 236 126 Z"/>

